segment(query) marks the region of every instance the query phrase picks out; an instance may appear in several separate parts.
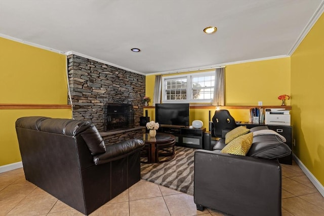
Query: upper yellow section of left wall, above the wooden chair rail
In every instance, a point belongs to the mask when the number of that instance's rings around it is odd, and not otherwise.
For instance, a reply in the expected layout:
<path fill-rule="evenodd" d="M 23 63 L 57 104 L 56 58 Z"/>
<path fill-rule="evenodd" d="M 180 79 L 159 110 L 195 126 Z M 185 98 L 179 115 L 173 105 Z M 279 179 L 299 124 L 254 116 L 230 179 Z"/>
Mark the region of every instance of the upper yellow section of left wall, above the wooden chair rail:
<path fill-rule="evenodd" d="M 66 56 L 0 37 L 0 103 L 66 104 Z"/>

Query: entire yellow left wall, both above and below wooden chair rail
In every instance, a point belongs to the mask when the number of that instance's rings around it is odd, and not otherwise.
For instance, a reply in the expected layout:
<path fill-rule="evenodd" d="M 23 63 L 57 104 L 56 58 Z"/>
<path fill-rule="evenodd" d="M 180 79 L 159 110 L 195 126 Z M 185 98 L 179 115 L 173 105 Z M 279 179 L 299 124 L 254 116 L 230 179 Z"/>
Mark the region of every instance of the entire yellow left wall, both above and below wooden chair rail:
<path fill-rule="evenodd" d="M 67 104 L 66 56 L 0 37 L 0 104 Z M 21 161 L 15 121 L 71 118 L 70 109 L 0 110 L 0 166 Z"/>

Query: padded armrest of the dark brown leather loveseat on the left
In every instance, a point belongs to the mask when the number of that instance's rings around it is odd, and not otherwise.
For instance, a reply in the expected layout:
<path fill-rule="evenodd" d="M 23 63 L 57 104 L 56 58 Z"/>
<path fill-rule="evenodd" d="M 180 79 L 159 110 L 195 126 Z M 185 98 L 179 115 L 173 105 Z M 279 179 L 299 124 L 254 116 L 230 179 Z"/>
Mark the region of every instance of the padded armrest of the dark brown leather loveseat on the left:
<path fill-rule="evenodd" d="M 130 139 L 120 143 L 106 146 L 106 152 L 93 157 L 93 161 L 96 165 L 108 163 L 113 160 L 126 157 L 135 151 L 142 149 L 145 145 L 143 140 Z"/>

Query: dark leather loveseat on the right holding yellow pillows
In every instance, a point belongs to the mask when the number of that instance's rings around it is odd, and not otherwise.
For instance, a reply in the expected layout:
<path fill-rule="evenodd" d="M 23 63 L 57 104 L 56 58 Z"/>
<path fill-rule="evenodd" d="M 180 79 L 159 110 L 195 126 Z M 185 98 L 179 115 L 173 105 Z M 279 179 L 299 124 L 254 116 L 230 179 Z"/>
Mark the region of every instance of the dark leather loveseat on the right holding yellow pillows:
<path fill-rule="evenodd" d="M 250 133 L 261 130 L 270 131 L 258 126 Z M 197 209 L 209 207 L 231 215 L 281 215 L 281 166 L 276 158 L 289 155 L 291 149 L 275 133 L 254 136 L 246 156 L 221 153 L 225 146 L 225 138 L 221 138 L 213 151 L 195 151 Z"/>

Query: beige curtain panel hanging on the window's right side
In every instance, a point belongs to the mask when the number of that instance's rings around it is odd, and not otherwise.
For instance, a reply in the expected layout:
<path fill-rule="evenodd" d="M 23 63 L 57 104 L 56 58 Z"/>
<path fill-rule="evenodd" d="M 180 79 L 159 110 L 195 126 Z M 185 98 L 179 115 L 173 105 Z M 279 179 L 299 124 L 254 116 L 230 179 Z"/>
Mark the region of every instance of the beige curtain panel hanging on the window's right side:
<path fill-rule="evenodd" d="M 225 67 L 216 68 L 213 106 L 225 105 Z"/>

